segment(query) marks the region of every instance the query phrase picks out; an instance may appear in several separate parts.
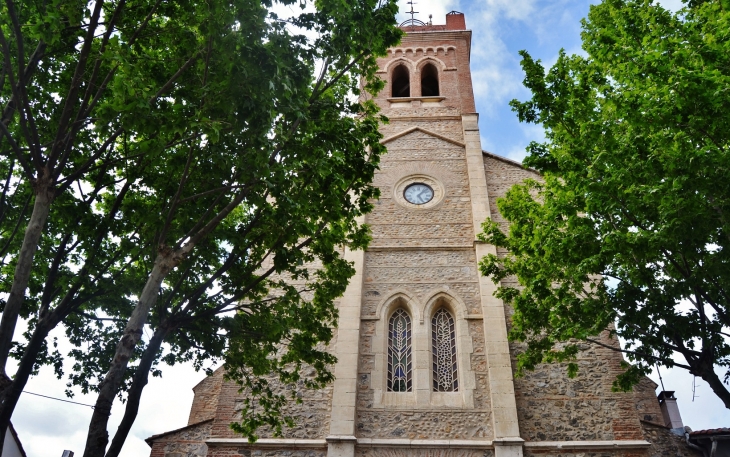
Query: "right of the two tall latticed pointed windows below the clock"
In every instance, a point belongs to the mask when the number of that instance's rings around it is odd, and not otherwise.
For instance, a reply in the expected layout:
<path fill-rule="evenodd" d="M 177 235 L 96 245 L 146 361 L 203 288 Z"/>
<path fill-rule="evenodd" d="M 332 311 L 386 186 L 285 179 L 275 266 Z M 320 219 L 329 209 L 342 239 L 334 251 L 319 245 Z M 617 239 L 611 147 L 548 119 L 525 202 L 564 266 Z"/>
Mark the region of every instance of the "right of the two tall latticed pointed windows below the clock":
<path fill-rule="evenodd" d="M 441 308 L 431 319 L 433 357 L 433 391 L 457 392 L 459 377 L 456 372 L 456 331 L 454 318 Z"/>

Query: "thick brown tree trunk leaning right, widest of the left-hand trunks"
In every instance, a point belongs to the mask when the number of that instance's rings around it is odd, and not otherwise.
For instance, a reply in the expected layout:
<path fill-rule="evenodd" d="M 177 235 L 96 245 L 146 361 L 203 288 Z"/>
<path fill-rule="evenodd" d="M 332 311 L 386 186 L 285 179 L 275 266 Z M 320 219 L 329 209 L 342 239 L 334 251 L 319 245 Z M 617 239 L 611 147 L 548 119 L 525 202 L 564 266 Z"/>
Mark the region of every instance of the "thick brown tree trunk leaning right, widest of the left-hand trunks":
<path fill-rule="evenodd" d="M 124 329 L 124 334 L 117 343 L 117 349 L 109 371 L 107 371 L 99 386 L 99 396 L 94 405 L 94 414 L 91 416 L 83 457 L 104 457 L 106 445 L 109 442 L 107 424 L 114 397 L 116 397 L 119 386 L 124 379 L 124 373 L 129 359 L 134 353 L 134 348 L 142 337 L 147 315 L 157 301 L 162 281 L 179 262 L 180 257 L 169 251 L 160 253 L 155 260 L 155 265 L 152 267 L 147 284 L 142 289 L 137 306 L 134 307 L 132 316 Z"/>

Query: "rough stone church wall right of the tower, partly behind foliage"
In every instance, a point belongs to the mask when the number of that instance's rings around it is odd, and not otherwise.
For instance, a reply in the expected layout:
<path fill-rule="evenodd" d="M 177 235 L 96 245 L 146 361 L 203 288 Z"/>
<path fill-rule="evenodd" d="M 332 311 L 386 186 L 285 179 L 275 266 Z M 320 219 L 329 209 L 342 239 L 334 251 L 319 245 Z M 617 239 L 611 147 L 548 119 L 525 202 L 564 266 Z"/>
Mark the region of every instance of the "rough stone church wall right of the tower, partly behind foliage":
<path fill-rule="evenodd" d="M 492 218 L 507 230 L 506 221 L 497 209 L 497 199 L 503 197 L 512 185 L 527 178 L 539 180 L 539 175 L 488 155 L 484 156 L 484 168 Z M 500 250 L 498 254 L 505 253 Z M 518 285 L 515 278 L 504 282 Z M 513 310 L 506 306 L 505 312 L 511 316 Z M 615 338 L 609 338 L 607 332 L 600 339 L 604 344 L 618 346 Z M 514 367 L 514 357 L 521 346 L 510 343 L 510 348 Z M 530 441 L 642 439 L 639 419 L 661 417 L 654 396 L 656 386 L 647 379 L 637 386 L 634 393 L 612 392 L 613 380 L 623 371 L 620 366 L 622 360 L 623 357 L 616 351 L 586 344 L 579 354 L 579 372 L 574 379 L 568 378 L 567 369 L 561 364 L 541 365 L 524 377 L 515 379 L 522 437 Z"/>

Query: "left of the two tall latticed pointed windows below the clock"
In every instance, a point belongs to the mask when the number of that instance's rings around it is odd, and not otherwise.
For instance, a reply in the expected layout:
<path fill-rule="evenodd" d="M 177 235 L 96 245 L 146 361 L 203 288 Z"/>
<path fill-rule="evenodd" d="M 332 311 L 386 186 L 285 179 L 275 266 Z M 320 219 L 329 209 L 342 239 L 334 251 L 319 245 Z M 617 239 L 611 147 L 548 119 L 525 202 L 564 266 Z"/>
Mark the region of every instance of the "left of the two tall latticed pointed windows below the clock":
<path fill-rule="evenodd" d="M 396 310 L 388 323 L 388 391 L 413 390 L 411 357 L 411 317 Z"/>

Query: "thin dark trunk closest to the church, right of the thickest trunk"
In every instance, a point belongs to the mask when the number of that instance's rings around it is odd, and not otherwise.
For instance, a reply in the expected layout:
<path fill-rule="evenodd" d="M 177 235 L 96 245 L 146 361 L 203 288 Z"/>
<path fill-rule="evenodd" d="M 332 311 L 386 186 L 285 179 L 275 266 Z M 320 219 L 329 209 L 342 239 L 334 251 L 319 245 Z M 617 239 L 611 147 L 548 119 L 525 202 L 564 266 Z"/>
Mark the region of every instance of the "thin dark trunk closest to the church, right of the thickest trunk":
<path fill-rule="evenodd" d="M 144 389 L 147 385 L 152 363 L 157 358 L 157 352 L 160 350 L 162 342 L 171 330 L 172 329 L 167 328 L 164 325 L 160 326 L 160 328 L 155 331 L 154 335 L 152 335 L 149 344 L 145 348 L 144 353 L 142 354 L 142 359 L 137 367 L 137 371 L 134 373 L 132 387 L 129 389 L 127 407 L 124 410 L 124 418 L 122 418 L 122 422 L 119 424 L 119 428 L 114 434 L 114 439 L 112 439 L 112 444 L 106 452 L 106 457 L 118 457 L 119 453 L 122 451 L 122 446 L 127 440 L 129 430 L 132 428 L 132 424 L 134 424 L 134 421 L 137 418 L 139 403 L 142 398 L 142 389 Z"/>

